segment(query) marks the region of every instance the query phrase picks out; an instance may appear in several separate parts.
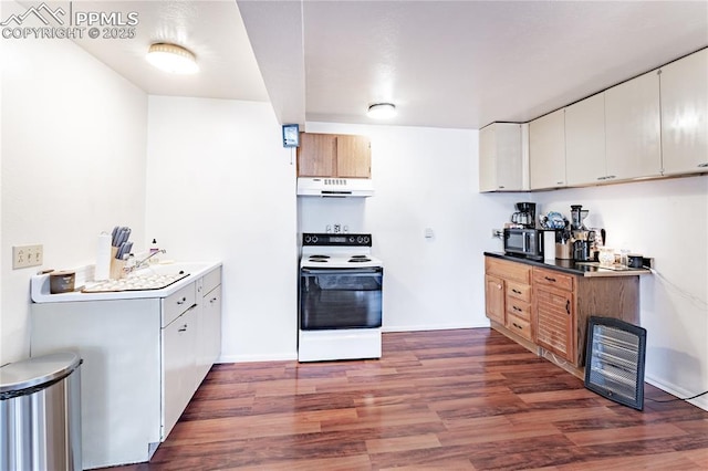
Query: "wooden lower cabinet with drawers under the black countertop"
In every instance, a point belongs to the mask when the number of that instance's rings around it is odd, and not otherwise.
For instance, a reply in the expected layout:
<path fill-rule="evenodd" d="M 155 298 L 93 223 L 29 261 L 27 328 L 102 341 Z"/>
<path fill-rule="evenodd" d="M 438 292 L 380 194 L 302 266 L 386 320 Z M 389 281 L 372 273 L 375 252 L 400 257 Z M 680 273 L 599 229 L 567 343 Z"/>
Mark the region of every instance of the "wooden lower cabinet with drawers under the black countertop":
<path fill-rule="evenodd" d="M 583 276 L 494 257 L 485 258 L 485 270 L 492 328 L 576 376 L 591 316 L 639 324 L 638 275 Z"/>

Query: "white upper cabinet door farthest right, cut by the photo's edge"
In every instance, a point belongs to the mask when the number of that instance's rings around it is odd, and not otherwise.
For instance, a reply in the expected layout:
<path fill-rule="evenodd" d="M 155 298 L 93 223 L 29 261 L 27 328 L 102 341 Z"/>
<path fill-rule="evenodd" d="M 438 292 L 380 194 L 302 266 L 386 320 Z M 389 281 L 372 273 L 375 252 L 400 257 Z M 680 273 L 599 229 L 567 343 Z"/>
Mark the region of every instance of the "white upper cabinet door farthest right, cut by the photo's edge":
<path fill-rule="evenodd" d="M 662 67 L 664 174 L 708 171 L 708 49 Z"/>

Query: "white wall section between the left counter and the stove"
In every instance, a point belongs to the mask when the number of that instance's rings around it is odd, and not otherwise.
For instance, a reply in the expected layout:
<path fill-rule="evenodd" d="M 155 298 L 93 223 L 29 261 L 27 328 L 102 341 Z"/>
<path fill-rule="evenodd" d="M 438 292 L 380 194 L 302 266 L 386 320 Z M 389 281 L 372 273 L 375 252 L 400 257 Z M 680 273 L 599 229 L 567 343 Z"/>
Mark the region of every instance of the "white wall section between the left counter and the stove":
<path fill-rule="evenodd" d="M 296 358 L 294 153 L 268 103 L 149 97 L 146 228 L 223 262 L 221 362 Z"/>

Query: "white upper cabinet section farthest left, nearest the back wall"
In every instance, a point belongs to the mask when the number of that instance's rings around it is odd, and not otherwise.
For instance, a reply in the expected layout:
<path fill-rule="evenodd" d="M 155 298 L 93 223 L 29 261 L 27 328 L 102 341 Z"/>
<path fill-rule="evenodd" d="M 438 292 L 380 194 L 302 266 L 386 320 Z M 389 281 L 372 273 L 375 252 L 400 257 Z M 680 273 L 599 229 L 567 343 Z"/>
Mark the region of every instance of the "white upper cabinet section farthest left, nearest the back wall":
<path fill-rule="evenodd" d="M 479 191 L 521 191 L 521 125 L 492 123 L 479 130 Z"/>

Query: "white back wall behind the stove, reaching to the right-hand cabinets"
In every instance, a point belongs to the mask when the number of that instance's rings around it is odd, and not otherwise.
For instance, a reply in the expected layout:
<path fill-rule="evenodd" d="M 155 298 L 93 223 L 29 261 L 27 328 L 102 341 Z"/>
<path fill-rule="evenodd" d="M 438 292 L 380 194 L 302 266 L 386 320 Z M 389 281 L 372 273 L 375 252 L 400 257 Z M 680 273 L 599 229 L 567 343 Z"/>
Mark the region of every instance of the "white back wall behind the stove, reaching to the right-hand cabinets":
<path fill-rule="evenodd" d="M 501 227 L 514 198 L 477 192 L 478 132 L 327 123 L 306 129 L 372 139 L 375 196 L 300 197 L 299 230 L 324 232 L 340 222 L 373 234 L 372 251 L 385 265 L 384 329 L 488 326 L 482 252 L 500 245 L 486 227 Z"/>

